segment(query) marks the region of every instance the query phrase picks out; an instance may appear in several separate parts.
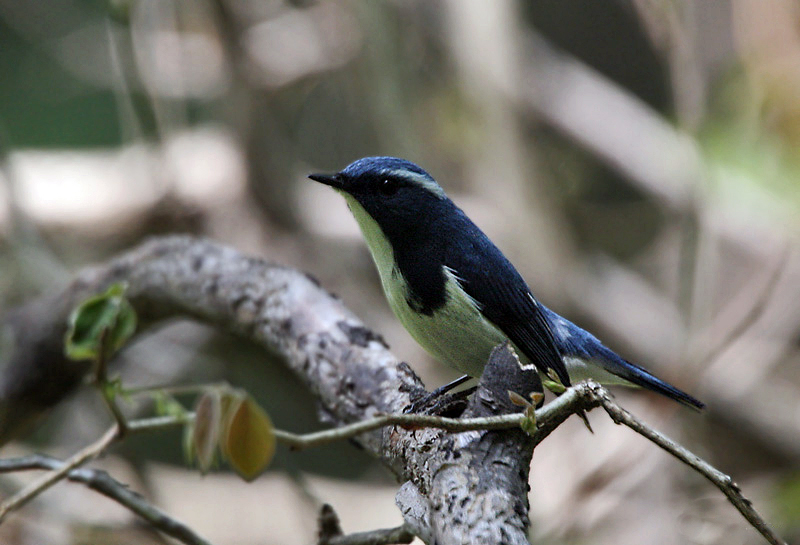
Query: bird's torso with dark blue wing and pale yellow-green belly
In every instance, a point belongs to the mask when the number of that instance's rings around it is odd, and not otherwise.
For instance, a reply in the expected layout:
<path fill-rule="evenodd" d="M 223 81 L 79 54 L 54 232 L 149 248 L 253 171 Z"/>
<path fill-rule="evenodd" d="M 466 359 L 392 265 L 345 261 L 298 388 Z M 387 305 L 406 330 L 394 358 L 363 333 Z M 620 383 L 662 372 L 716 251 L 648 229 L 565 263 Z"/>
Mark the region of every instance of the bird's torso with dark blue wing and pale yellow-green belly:
<path fill-rule="evenodd" d="M 387 234 L 409 290 L 407 308 L 396 289 L 384 288 L 406 329 L 435 357 L 473 376 L 492 348 L 510 339 L 523 361 L 569 385 L 549 325 L 520 274 L 452 201 L 436 206 L 421 214 L 425 220 L 413 234 Z"/>

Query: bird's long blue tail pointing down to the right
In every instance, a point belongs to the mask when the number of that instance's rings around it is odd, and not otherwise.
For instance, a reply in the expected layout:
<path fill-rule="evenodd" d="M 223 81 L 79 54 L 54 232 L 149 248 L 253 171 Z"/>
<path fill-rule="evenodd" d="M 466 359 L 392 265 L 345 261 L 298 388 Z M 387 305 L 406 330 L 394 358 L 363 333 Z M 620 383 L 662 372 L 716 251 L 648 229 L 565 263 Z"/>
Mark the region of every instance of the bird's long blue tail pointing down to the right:
<path fill-rule="evenodd" d="M 588 365 L 598 366 L 627 382 L 657 392 L 687 407 L 693 409 L 705 407 L 705 404 L 698 399 L 620 357 L 588 331 L 549 308 L 544 306 L 542 308 L 562 356 L 578 358 Z"/>

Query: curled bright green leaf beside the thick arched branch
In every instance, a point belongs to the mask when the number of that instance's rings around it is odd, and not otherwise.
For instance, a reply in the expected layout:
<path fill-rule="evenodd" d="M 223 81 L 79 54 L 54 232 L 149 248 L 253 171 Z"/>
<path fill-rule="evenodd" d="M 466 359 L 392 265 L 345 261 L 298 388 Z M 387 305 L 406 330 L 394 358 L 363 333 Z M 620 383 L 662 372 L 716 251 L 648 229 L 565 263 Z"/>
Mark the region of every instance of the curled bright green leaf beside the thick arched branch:
<path fill-rule="evenodd" d="M 136 331 L 136 312 L 116 283 L 89 297 L 70 314 L 65 353 L 73 360 L 110 358 Z"/>

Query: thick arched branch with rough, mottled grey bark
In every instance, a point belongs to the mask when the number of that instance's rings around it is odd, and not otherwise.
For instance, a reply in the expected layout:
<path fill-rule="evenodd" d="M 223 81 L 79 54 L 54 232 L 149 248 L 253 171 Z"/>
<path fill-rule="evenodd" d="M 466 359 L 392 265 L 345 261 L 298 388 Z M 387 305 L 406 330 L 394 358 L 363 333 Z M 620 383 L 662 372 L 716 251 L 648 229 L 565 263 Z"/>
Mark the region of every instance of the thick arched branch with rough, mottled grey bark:
<path fill-rule="evenodd" d="M 332 425 L 400 412 L 422 391 L 385 342 L 310 276 L 190 237 L 154 239 L 80 272 L 58 293 L 3 318 L 0 444 L 19 435 L 81 383 L 87 366 L 63 356 L 71 309 L 127 282 L 143 327 L 192 317 L 277 352 L 317 397 Z M 505 353 L 484 374 L 467 416 L 515 410 L 507 390 L 531 377 L 509 373 Z M 516 382 L 515 382 L 516 381 Z M 428 543 L 527 543 L 532 443 L 521 431 L 391 427 L 358 442 L 405 484 L 398 505 Z"/>

